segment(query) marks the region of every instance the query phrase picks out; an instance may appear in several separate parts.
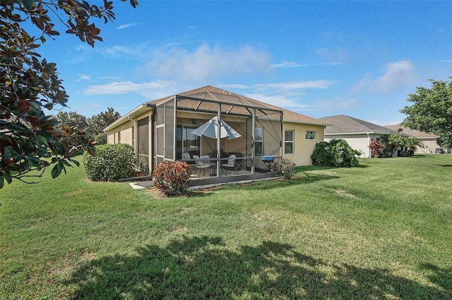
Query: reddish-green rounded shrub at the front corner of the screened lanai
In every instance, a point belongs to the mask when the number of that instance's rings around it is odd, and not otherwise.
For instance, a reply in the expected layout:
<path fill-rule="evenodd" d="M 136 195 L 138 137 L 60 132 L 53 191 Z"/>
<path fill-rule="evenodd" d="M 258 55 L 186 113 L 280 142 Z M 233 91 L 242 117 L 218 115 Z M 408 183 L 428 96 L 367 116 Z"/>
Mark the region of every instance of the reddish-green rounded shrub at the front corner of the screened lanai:
<path fill-rule="evenodd" d="M 167 196 L 189 193 L 191 167 L 184 161 L 164 161 L 153 172 L 154 185 Z"/>

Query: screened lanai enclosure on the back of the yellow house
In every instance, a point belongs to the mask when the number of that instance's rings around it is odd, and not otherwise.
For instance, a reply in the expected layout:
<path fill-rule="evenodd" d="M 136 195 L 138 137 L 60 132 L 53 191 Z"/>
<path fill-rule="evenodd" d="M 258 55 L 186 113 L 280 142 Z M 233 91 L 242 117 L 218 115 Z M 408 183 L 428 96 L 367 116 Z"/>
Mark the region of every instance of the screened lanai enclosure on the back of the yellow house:
<path fill-rule="evenodd" d="M 210 177 L 224 177 L 267 172 L 268 158 L 283 156 L 283 111 L 261 102 L 205 89 L 153 104 L 155 132 L 147 135 L 154 139 L 153 165 L 183 159 L 199 177 L 206 172 Z M 220 126 L 215 127 L 217 137 L 194 134 L 215 116 L 238 135 L 221 138 Z M 208 168 L 201 168 L 201 163 L 208 163 Z"/>

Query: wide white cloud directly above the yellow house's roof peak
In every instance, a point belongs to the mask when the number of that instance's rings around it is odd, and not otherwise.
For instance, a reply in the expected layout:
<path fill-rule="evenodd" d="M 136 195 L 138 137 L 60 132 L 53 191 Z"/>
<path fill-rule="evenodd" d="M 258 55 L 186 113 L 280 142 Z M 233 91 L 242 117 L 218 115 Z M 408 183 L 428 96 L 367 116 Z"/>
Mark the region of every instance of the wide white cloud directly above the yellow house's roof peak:
<path fill-rule="evenodd" d="M 203 82 L 225 75 L 270 73 L 269 54 L 251 46 L 225 50 L 203 44 L 194 51 L 172 48 L 155 51 L 146 70 L 160 78 Z"/>

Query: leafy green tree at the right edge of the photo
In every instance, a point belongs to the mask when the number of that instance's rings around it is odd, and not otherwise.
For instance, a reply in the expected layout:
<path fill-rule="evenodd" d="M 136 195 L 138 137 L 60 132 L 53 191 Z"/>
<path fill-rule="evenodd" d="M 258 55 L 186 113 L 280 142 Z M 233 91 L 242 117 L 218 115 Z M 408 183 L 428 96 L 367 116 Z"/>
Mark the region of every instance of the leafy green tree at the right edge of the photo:
<path fill-rule="evenodd" d="M 452 77 L 449 77 L 452 79 Z M 438 135 L 436 142 L 441 146 L 452 147 L 452 81 L 429 80 L 432 87 L 417 87 L 400 112 L 408 115 L 402 125 L 411 129 Z"/>

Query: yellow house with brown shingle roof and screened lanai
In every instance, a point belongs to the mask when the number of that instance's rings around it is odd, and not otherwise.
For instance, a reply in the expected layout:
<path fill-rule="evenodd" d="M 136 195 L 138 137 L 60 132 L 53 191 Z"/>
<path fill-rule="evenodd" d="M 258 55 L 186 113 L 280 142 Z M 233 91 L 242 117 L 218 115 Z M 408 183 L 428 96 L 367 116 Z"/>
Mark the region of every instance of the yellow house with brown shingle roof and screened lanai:
<path fill-rule="evenodd" d="M 224 121 L 237 135 L 218 138 L 192 133 L 215 117 L 217 124 Z M 268 158 L 284 157 L 297 165 L 310 165 L 325 126 L 307 115 L 208 85 L 141 104 L 105 132 L 108 143 L 131 144 L 138 168 L 145 172 L 152 172 L 162 161 L 182 159 L 182 154 L 190 157 L 196 168 L 198 156 L 204 155 L 203 161 L 213 169 L 210 175 L 221 177 L 267 172 Z M 232 154 L 236 166 L 225 173 L 221 167 Z"/>

